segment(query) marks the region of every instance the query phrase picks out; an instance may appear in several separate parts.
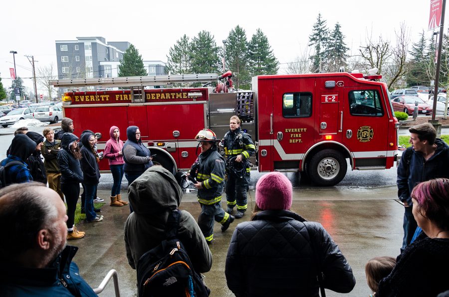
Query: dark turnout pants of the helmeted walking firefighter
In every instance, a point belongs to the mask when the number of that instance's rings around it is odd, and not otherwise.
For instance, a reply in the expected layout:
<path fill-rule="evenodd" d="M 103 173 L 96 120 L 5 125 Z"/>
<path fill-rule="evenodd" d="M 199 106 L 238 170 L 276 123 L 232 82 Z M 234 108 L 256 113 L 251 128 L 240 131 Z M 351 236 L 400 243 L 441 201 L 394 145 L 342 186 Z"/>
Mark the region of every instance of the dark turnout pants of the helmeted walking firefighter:
<path fill-rule="evenodd" d="M 224 224 L 229 219 L 229 214 L 225 212 L 221 206 L 221 202 L 206 205 L 200 203 L 201 213 L 198 217 L 198 226 L 207 241 L 214 239 L 214 221 Z"/>

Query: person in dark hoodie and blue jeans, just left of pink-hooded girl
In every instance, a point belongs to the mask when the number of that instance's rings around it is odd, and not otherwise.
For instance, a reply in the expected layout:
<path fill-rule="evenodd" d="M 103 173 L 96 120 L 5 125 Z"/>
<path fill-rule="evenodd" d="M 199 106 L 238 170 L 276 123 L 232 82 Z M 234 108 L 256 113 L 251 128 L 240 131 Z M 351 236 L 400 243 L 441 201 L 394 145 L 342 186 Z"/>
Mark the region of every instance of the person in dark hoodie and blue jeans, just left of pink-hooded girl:
<path fill-rule="evenodd" d="M 95 135 L 86 132 L 81 135 L 81 168 L 83 170 L 83 184 L 85 187 L 84 209 L 88 222 L 100 222 L 103 220 L 102 215 L 97 215 L 94 211 L 93 198 L 100 182 L 100 169 L 98 168 L 98 157 L 94 150 Z"/>

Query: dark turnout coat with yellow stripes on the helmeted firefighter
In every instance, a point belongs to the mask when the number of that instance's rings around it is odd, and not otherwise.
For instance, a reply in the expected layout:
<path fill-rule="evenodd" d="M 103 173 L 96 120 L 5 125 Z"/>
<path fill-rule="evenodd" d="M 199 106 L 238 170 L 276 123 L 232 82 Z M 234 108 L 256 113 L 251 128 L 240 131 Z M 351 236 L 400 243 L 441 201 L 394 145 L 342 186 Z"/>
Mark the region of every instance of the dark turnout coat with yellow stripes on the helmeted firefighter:
<path fill-rule="evenodd" d="M 213 147 L 202 152 L 198 161 L 197 181 L 203 186 L 198 190 L 199 202 L 206 205 L 220 202 L 225 179 L 225 159 Z"/>

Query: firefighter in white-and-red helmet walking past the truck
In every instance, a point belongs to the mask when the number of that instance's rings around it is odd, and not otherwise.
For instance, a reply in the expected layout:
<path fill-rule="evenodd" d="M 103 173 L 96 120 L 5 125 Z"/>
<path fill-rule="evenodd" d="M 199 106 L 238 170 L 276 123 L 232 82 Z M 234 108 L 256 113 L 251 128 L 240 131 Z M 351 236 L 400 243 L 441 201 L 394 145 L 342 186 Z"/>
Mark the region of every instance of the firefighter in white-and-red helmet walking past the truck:
<path fill-rule="evenodd" d="M 189 174 L 196 176 L 198 201 L 201 213 L 198 225 L 208 244 L 214 238 L 214 220 L 222 224 L 222 231 L 229 228 L 234 217 L 226 213 L 221 205 L 225 178 L 225 159 L 217 151 L 217 137 L 212 130 L 201 130 L 195 137 L 199 141 L 201 154 L 192 166 Z"/>

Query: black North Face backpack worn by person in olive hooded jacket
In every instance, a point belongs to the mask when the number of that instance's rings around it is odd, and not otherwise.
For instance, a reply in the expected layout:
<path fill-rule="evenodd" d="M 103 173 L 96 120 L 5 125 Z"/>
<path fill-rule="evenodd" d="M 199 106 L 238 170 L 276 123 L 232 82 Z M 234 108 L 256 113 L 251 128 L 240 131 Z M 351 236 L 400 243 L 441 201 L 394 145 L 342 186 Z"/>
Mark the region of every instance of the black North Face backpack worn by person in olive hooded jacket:
<path fill-rule="evenodd" d="M 178 237 L 181 216 L 172 210 L 165 229 L 166 239 L 146 252 L 137 263 L 139 297 L 207 297 L 210 290 L 194 270 L 189 256 Z"/>

